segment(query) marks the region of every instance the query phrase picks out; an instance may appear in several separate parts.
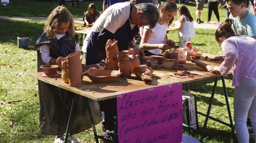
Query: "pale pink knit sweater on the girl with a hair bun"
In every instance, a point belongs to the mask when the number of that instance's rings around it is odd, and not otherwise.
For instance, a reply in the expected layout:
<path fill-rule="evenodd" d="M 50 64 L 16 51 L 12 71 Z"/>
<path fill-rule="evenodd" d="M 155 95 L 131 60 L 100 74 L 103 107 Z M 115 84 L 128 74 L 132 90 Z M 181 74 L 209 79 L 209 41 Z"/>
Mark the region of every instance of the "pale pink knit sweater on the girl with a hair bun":
<path fill-rule="evenodd" d="M 248 36 L 230 37 L 222 43 L 222 51 L 225 59 L 219 66 L 219 72 L 226 76 L 232 68 L 232 86 L 256 79 L 256 39 Z"/>

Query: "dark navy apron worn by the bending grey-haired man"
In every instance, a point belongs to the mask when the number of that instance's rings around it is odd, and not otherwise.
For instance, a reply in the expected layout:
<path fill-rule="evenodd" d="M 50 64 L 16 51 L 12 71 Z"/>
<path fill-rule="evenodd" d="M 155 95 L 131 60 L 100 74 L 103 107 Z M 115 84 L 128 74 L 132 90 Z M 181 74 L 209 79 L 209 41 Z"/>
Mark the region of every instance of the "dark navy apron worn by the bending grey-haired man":
<path fill-rule="evenodd" d="M 131 30 L 130 17 L 134 5 L 132 3 L 130 5 L 131 8 L 129 18 L 125 21 L 122 27 L 116 30 L 116 33 L 114 34 L 114 39 L 117 40 L 117 46 L 119 51 L 127 50 L 127 44 L 132 41 L 134 36 L 139 32 L 138 26 L 135 26 L 133 30 Z M 113 21 L 113 24 L 115 24 L 115 21 Z M 100 32 L 92 32 L 90 35 L 87 45 L 86 65 L 98 64 L 101 60 L 106 58 L 105 46 L 100 47 L 98 44 L 99 34 Z"/>

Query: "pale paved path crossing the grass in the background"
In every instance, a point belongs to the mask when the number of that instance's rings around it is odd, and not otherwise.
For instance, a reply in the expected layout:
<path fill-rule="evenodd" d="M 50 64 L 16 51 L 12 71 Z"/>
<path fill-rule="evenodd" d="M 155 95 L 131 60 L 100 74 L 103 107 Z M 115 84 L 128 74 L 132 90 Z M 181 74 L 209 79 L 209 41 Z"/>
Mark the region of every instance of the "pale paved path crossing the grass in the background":
<path fill-rule="evenodd" d="M 46 21 L 47 17 L 8 17 L 8 16 L 0 16 L 0 19 L 10 19 L 10 20 L 34 20 L 34 21 Z M 75 18 L 75 23 L 84 23 L 83 18 Z M 209 24 L 209 23 L 202 23 L 197 24 L 194 21 L 194 28 L 203 28 L 203 29 L 217 29 L 217 24 Z"/>

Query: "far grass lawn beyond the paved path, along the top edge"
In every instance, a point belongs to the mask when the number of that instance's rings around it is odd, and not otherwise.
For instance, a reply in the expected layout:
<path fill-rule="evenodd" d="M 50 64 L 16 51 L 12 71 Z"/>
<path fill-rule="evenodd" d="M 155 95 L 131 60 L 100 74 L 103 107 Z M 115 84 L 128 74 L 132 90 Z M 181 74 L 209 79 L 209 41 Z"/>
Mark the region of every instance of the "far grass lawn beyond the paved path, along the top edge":
<path fill-rule="evenodd" d="M 87 7 L 90 3 L 95 3 L 96 8 L 98 11 L 102 11 L 102 1 L 83 1 L 79 2 L 80 7 L 71 7 L 71 2 L 65 2 L 66 7 L 70 10 L 76 18 L 83 17 L 84 11 L 87 10 Z M 52 9 L 59 5 L 59 2 L 44 2 L 38 0 L 15 0 L 10 1 L 10 4 L 6 7 L 0 6 L 0 16 L 23 16 L 23 17 L 47 17 Z M 76 5 L 76 3 L 75 3 Z M 191 15 L 193 16 L 194 20 L 196 20 L 195 15 L 195 3 L 185 4 L 187 5 Z M 179 4 L 177 4 L 179 6 Z M 207 20 L 207 3 L 205 3 L 202 12 L 201 20 Z M 226 9 L 219 8 L 219 15 L 220 20 L 223 21 L 226 18 Z M 177 20 L 177 16 L 176 16 Z M 216 21 L 216 16 L 212 12 L 212 21 Z"/>

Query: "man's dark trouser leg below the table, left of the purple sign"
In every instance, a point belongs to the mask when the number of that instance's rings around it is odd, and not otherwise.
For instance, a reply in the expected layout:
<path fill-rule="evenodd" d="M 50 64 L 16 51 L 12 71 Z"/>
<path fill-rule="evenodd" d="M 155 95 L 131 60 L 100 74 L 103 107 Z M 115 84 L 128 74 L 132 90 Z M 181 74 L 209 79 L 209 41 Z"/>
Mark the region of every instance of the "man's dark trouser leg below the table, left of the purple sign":
<path fill-rule="evenodd" d="M 104 101 L 99 101 L 100 111 L 102 115 L 102 130 L 106 132 L 114 131 L 115 129 L 115 119 L 116 119 L 116 98 L 107 99 Z"/>

